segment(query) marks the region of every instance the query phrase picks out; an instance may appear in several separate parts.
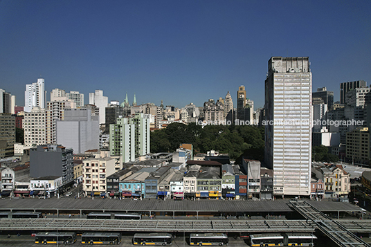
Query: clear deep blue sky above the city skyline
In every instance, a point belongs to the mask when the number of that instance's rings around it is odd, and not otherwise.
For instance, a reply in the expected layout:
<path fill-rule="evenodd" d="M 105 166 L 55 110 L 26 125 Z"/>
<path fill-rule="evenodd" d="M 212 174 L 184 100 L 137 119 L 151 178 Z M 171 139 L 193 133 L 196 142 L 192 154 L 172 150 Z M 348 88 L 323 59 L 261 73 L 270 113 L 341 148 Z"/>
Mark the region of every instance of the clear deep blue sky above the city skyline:
<path fill-rule="evenodd" d="M 110 100 L 237 107 L 246 86 L 264 105 L 271 56 L 309 57 L 313 90 L 371 84 L 371 1 L 0 0 L 0 88 L 24 105 L 26 84 Z"/>

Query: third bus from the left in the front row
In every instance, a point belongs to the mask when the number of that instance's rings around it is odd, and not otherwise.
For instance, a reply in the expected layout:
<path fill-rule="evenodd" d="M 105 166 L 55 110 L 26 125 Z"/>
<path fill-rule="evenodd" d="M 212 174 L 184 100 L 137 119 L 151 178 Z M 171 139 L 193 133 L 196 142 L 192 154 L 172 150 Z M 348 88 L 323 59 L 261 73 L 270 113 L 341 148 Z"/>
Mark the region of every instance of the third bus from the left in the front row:
<path fill-rule="evenodd" d="M 133 244 L 134 245 L 162 245 L 168 246 L 172 244 L 172 235 L 166 232 L 156 233 L 136 233 L 134 234 Z"/>

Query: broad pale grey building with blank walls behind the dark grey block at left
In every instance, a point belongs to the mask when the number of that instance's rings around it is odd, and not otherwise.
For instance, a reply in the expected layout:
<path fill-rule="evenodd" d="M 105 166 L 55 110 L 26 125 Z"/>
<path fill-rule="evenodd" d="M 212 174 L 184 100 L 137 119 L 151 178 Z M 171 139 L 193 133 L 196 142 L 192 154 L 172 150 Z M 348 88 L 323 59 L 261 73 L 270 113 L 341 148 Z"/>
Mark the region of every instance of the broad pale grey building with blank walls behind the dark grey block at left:
<path fill-rule="evenodd" d="M 73 154 L 99 149 L 99 122 L 91 116 L 91 109 L 65 109 L 64 120 L 55 123 L 56 143 L 72 148 Z"/>

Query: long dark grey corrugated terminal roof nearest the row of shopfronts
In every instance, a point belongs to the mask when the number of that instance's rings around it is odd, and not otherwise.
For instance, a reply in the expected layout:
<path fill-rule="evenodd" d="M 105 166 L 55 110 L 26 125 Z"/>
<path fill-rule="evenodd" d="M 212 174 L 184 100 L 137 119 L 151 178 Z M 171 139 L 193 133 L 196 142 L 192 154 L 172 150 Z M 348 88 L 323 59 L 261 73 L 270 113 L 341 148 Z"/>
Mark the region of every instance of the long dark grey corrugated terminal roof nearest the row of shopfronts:
<path fill-rule="evenodd" d="M 332 201 L 309 201 L 323 212 L 360 211 L 356 205 Z M 293 212 L 289 200 L 240 201 L 240 200 L 200 200 L 173 201 L 147 200 L 132 201 L 118 199 L 4 199 L 0 200 L 0 210 L 105 210 L 132 212 L 176 211 L 176 212 Z"/>

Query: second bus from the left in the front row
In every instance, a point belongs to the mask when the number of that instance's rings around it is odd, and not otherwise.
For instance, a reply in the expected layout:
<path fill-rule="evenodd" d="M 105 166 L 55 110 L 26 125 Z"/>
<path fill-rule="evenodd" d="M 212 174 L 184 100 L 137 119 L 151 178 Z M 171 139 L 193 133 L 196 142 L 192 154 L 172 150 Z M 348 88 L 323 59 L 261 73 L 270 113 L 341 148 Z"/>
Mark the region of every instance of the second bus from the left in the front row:
<path fill-rule="evenodd" d="M 118 232 L 84 232 L 81 244 L 120 244 L 121 233 Z"/>

